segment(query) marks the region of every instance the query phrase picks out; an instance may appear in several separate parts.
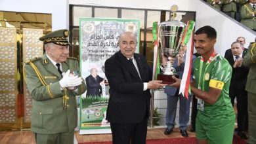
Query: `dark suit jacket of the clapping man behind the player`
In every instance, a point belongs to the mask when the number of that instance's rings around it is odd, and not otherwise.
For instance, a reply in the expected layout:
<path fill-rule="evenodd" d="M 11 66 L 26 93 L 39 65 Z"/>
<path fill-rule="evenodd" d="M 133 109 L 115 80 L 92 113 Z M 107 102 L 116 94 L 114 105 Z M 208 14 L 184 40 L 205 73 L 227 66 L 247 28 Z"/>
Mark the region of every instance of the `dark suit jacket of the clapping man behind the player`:
<path fill-rule="evenodd" d="M 244 58 L 245 54 L 247 53 L 247 48 L 244 49 L 242 58 Z M 241 67 L 236 67 L 234 68 L 234 57 L 231 54 L 230 56 L 225 57 L 226 60 L 228 60 L 228 63 L 230 63 L 232 67 L 232 77 L 231 77 L 231 82 L 230 82 L 230 90 L 232 88 L 245 88 L 246 80 L 247 80 L 247 75 L 249 72 L 248 67 L 245 67 L 242 65 Z"/>

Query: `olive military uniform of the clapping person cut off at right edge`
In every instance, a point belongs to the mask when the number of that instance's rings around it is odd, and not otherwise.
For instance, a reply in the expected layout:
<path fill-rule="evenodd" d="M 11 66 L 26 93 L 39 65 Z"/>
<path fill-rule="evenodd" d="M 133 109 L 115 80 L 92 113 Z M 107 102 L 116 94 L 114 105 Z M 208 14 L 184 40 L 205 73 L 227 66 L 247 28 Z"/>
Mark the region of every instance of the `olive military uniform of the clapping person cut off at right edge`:
<path fill-rule="evenodd" d="M 256 143 L 256 42 L 249 45 L 243 65 L 249 67 L 245 90 L 248 92 L 248 132 L 251 144 Z"/>

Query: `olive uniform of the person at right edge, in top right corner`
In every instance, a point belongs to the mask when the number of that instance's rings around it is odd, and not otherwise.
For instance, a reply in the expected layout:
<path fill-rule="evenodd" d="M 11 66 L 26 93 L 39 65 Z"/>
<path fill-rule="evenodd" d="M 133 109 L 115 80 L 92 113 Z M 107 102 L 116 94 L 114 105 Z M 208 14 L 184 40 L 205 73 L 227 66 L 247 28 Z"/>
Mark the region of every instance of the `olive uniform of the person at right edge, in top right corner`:
<path fill-rule="evenodd" d="M 253 16 L 255 10 L 250 3 L 243 5 L 240 9 L 241 12 L 241 23 L 256 31 L 256 17 Z"/>

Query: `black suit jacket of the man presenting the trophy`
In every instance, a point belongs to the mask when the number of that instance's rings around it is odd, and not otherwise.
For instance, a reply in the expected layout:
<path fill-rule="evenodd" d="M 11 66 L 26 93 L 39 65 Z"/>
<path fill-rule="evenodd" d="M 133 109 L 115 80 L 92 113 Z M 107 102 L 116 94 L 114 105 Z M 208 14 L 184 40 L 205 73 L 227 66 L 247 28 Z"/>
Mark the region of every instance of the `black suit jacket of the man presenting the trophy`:
<path fill-rule="evenodd" d="M 108 122 L 139 123 L 148 117 L 150 90 L 143 91 L 143 82 L 152 79 L 152 71 L 144 56 L 134 54 L 140 77 L 133 63 L 121 52 L 116 52 L 105 62 L 105 74 L 110 85 L 108 102 Z"/>

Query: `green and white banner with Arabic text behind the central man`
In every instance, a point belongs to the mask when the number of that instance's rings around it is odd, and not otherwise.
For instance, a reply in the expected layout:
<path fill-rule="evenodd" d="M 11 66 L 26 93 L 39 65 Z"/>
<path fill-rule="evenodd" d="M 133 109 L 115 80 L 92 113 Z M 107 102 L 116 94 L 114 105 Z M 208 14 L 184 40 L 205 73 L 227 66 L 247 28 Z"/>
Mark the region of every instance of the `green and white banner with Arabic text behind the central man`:
<path fill-rule="evenodd" d="M 139 41 L 140 21 L 130 19 L 79 18 L 81 75 L 87 84 L 87 91 L 79 99 L 80 130 L 110 128 L 106 121 L 108 107 L 108 80 L 104 63 L 119 51 L 119 35 L 131 31 Z M 137 51 L 139 53 L 139 43 Z"/>

